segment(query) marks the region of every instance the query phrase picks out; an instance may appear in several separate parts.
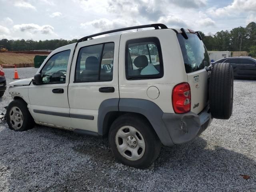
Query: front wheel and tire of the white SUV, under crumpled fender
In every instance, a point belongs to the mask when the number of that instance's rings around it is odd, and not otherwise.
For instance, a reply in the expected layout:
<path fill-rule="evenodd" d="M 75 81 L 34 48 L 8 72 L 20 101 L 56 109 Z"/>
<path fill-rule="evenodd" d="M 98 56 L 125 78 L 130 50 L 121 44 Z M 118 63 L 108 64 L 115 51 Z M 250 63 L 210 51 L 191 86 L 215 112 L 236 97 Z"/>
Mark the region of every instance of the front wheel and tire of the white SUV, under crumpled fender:
<path fill-rule="evenodd" d="M 9 128 L 14 131 L 26 131 L 35 125 L 26 102 L 21 99 L 10 102 L 6 110 L 6 120 Z"/>

